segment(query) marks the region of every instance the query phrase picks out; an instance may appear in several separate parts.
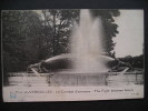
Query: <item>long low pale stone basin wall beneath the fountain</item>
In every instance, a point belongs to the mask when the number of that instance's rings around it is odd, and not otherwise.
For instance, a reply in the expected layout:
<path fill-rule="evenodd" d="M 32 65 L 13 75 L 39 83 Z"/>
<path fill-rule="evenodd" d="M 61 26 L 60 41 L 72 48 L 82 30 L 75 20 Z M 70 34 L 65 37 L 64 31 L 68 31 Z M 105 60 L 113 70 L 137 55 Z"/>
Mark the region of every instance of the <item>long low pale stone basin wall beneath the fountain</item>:
<path fill-rule="evenodd" d="M 96 72 L 78 73 L 59 71 L 51 73 L 40 73 L 37 77 L 33 73 L 12 72 L 9 73 L 10 85 L 23 87 L 92 87 L 92 85 L 128 85 L 144 84 L 144 72 L 126 72 L 118 77 L 120 72 Z"/>

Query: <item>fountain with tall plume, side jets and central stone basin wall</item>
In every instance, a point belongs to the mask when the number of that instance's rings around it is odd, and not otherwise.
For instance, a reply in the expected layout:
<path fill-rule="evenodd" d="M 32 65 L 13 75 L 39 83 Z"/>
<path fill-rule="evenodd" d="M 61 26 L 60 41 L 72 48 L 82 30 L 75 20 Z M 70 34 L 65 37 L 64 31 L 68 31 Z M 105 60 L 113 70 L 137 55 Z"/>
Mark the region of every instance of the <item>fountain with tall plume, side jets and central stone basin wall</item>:
<path fill-rule="evenodd" d="M 109 62 L 116 60 L 105 56 L 102 51 L 102 21 L 100 18 L 92 18 L 89 10 L 80 11 L 79 24 L 75 23 L 70 38 L 71 52 L 60 54 L 45 60 L 41 63 L 34 63 L 29 67 L 31 71 L 40 77 L 34 68 L 47 69 L 53 73 L 50 79 L 50 85 L 107 85 L 107 77 L 110 68 Z M 128 69 L 120 72 L 120 77 Z M 46 70 L 45 70 L 46 71 Z"/>

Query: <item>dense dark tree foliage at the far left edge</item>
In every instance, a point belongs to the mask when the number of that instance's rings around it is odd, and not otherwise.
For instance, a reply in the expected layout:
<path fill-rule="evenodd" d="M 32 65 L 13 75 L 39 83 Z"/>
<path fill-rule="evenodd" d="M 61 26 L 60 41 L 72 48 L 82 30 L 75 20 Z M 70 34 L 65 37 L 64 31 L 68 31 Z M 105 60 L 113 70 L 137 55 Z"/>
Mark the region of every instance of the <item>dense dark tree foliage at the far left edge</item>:
<path fill-rule="evenodd" d="M 22 71 L 38 61 L 41 23 L 33 11 L 2 11 L 2 53 L 7 71 Z"/>

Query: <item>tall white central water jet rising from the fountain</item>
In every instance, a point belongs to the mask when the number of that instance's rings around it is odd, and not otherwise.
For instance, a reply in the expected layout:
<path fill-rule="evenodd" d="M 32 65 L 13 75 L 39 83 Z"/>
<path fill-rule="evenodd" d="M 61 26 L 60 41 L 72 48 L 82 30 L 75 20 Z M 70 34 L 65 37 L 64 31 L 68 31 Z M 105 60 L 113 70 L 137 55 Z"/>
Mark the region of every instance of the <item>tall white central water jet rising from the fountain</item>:
<path fill-rule="evenodd" d="M 79 26 L 75 24 L 71 39 L 71 53 L 76 56 L 75 71 L 82 73 L 107 71 L 101 58 L 102 37 L 101 19 L 93 19 L 87 9 L 81 10 Z"/>

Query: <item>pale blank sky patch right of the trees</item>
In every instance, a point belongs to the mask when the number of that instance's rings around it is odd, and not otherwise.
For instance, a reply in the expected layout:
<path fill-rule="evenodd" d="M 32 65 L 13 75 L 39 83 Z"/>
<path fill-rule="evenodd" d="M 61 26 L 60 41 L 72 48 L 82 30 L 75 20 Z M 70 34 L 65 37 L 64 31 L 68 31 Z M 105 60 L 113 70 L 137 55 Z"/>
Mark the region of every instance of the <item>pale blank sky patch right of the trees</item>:
<path fill-rule="evenodd" d="M 114 39 L 116 57 L 142 54 L 144 10 L 120 10 L 115 22 L 119 26 L 119 34 Z"/>

